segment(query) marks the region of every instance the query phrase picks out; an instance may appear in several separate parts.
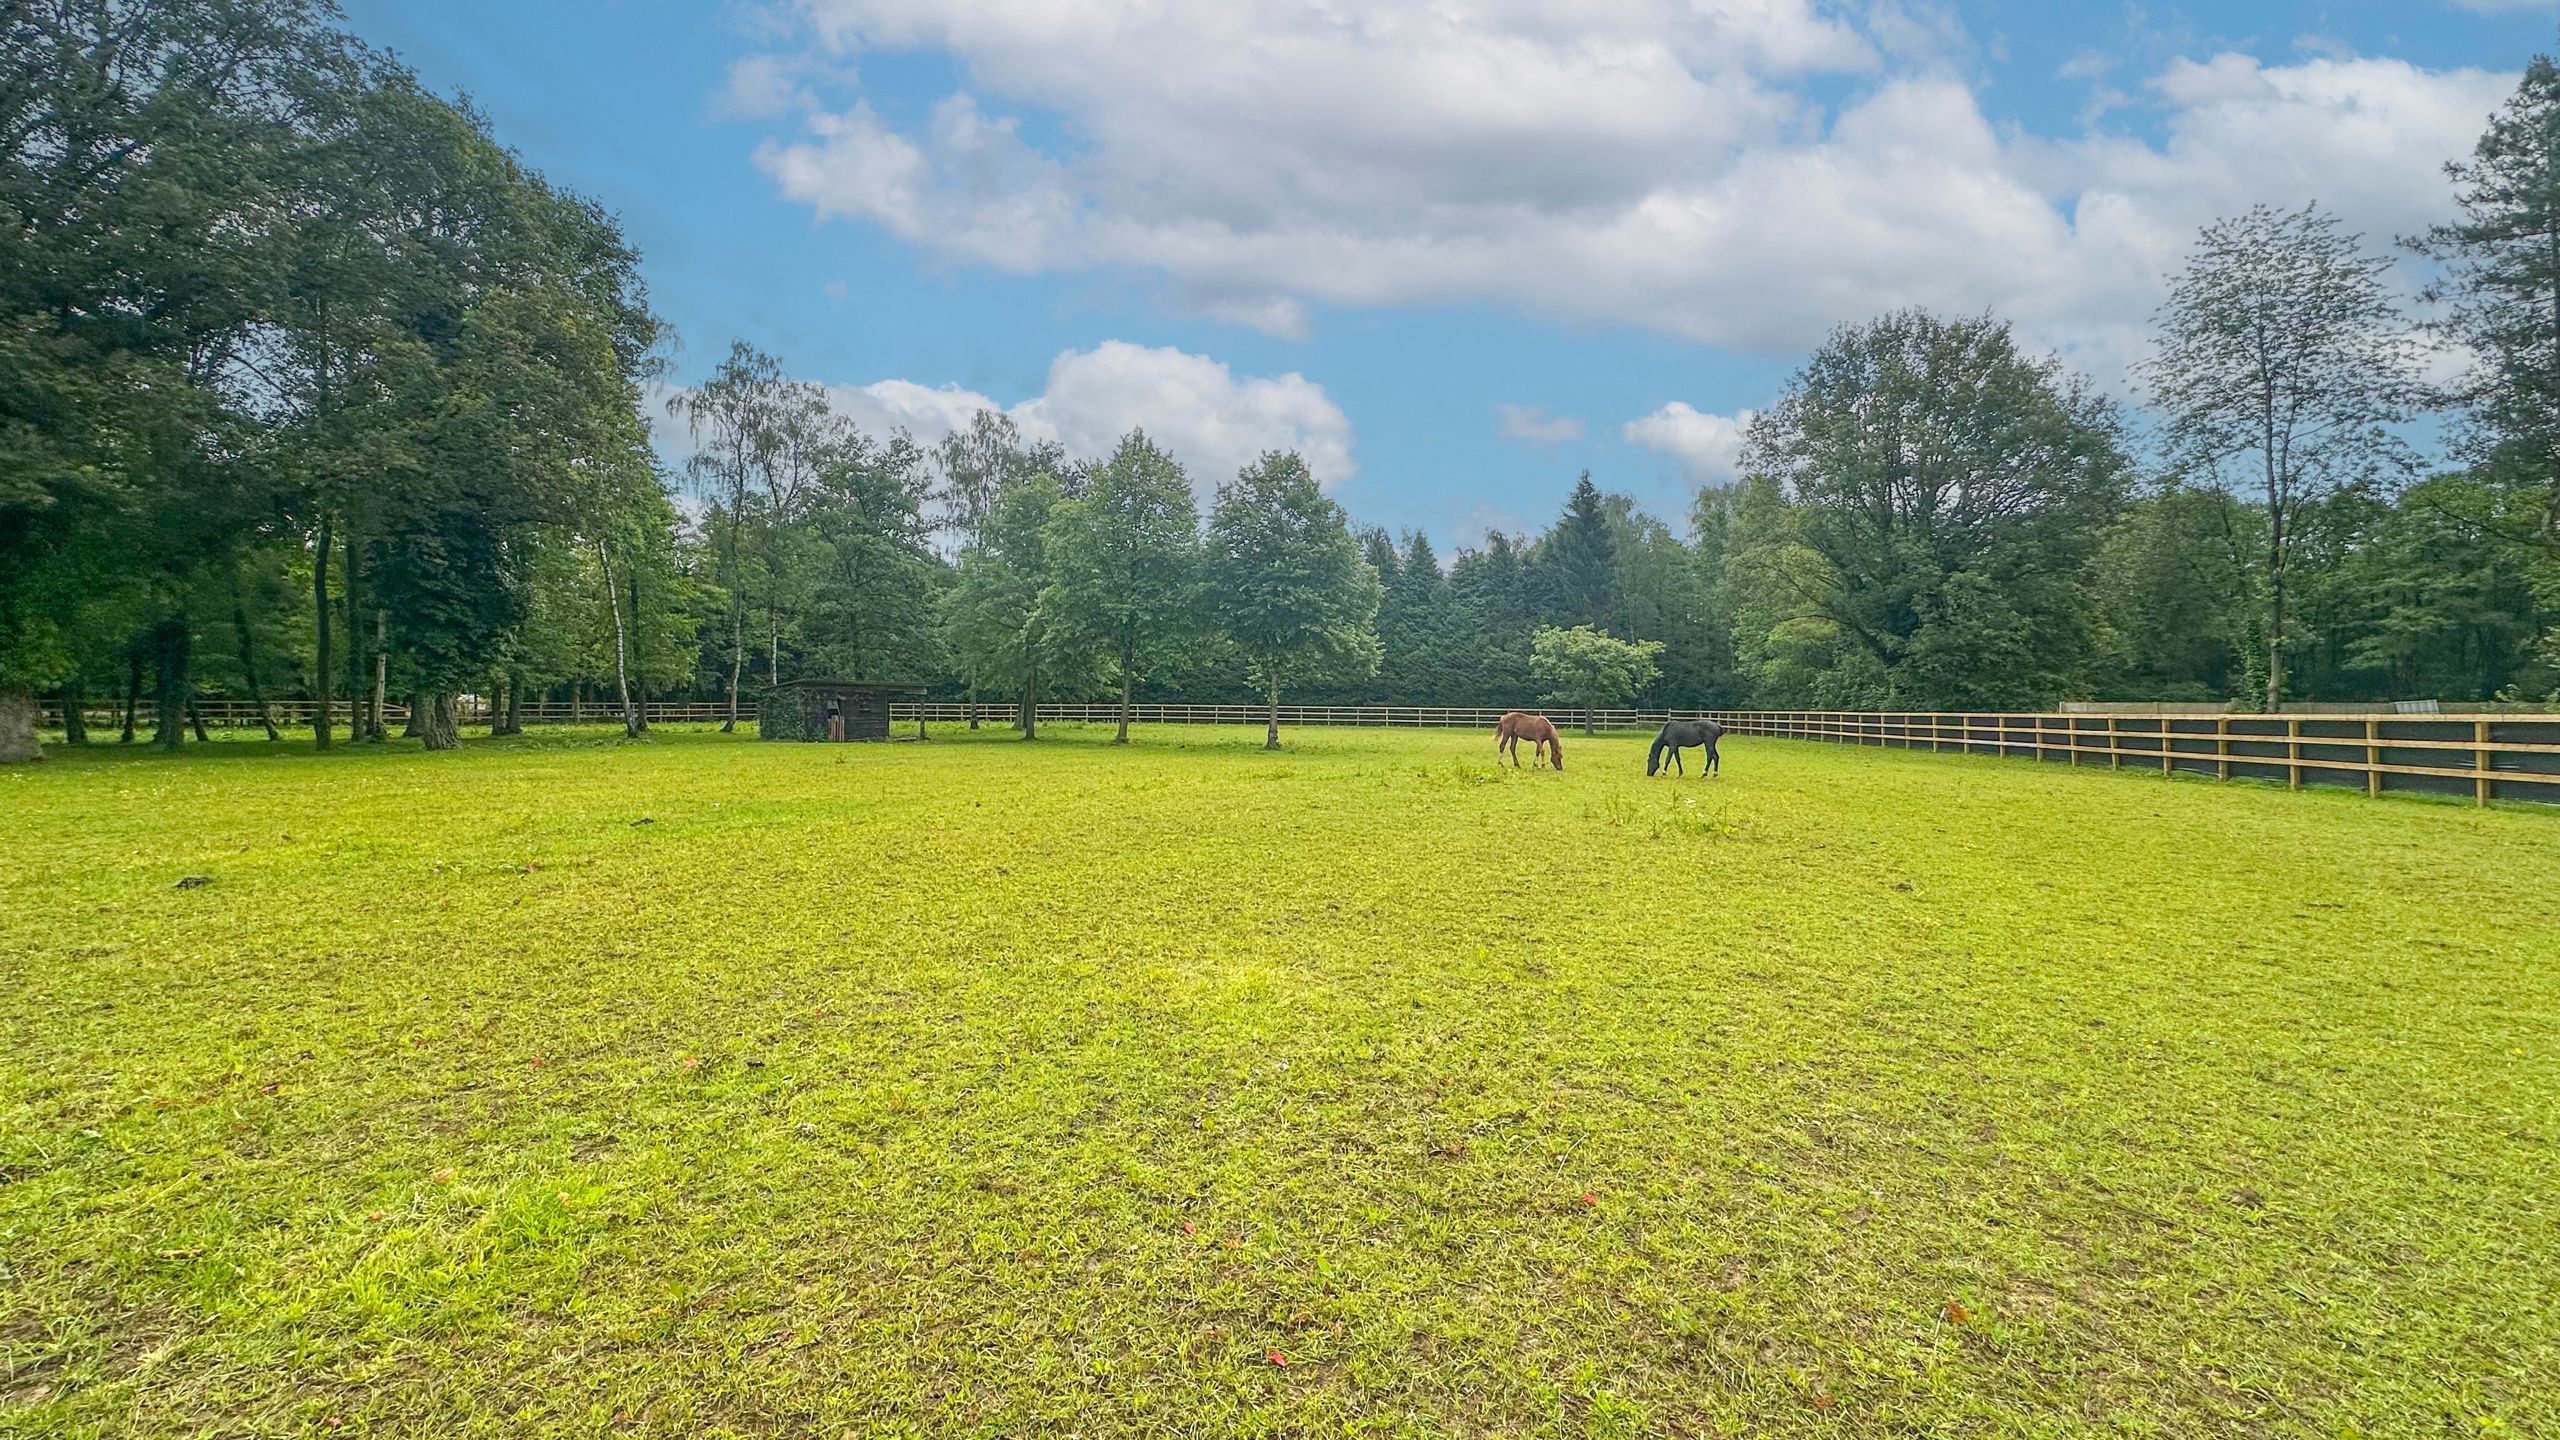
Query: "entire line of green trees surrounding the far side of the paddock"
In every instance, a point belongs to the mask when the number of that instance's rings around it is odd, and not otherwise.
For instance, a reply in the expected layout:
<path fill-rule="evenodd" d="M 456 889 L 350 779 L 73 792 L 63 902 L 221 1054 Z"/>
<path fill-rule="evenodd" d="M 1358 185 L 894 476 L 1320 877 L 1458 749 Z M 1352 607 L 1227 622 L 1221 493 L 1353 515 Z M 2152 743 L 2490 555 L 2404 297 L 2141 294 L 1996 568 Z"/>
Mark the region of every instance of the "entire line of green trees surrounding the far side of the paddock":
<path fill-rule="evenodd" d="M 571 694 L 643 733 L 650 700 L 735 728 L 799 676 L 927 682 L 1024 735 L 1096 697 L 2560 689 L 2547 56 L 2447 167 L 2455 218 L 2399 241 L 2414 313 L 2335 215 L 2255 208 L 2171 279 L 2132 407 L 1997 315 L 1894 313 L 1836 331 L 1679 528 L 1585 474 L 1544 530 L 1441 559 L 1293 454 L 1193 477 L 1144 430 L 1078 459 L 1001 413 L 870 436 L 748 343 L 668 405 L 671 464 L 612 215 L 335 26 L 320 0 L 0 26 L 0 756 L 33 753 L 38 694 L 72 743 L 102 700 L 118 738 L 148 712 L 179 746 L 225 694 L 353 700 L 358 740 L 397 702 L 443 748 L 461 694 L 497 730 Z M 328 707 L 312 728 L 335 743 Z"/>

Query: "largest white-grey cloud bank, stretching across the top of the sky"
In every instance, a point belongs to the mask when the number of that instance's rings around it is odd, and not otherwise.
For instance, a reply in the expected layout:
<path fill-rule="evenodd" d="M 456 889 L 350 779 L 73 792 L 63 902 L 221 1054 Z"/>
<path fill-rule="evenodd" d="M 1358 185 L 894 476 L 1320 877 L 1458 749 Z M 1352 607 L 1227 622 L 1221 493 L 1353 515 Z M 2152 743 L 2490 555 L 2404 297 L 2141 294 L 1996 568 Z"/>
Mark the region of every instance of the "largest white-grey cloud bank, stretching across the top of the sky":
<path fill-rule="evenodd" d="M 2483 0 L 2486 3 L 2486 0 Z M 2153 138 L 1994 126 L 1923 3 L 796 0 L 832 64 L 950 56 L 914 126 L 860 97 L 758 149 L 822 218 L 1011 274 L 1134 269 L 1275 336 L 1308 302 L 1492 302 L 1800 351 L 1897 305 L 2040 343 L 2138 333 L 2196 225 L 2322 200 L 2435 220 L 2511 77 L 2179 59 L 2092 102 Z M 2092 69 L 2094 61 L 2076 69 Z M 1833 82 L 1848 77 L 1846 100 Z M 1050 120 L 1034 143 L 1021 120 Z"/>

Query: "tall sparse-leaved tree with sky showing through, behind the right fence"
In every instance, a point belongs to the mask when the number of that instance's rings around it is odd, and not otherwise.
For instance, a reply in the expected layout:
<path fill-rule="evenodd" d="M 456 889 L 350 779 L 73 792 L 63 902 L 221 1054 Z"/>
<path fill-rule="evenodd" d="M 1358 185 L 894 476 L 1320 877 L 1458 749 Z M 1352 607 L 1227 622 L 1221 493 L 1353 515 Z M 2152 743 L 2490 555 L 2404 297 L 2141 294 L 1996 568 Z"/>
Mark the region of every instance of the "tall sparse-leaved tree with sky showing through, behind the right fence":
<path fill-rule="evenodd" d="M 2317 205 L 2253 208 L 2196 238 L 2140 377 L 2179 477 L 2248 484 L 2266 507 L 2258 589 L 2266 707 L 2286 694 L 2294 551 L 2304 512 L 2412 466 L 2414 348 L 2383 292 L 2388 261 Z"/>

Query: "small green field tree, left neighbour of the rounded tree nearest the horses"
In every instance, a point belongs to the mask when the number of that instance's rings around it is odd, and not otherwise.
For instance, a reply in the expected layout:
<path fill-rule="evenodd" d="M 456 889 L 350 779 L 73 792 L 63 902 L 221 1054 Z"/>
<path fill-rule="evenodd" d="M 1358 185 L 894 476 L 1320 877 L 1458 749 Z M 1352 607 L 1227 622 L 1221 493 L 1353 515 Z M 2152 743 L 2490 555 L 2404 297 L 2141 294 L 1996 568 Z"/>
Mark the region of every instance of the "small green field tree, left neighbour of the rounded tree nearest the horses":
<path fill-rule="evenodd" d="M 1144 430 L 1129 430 L 1093 487 L 1050 515 L 1039 610 L 1065 646 L 1111 666 L 1119 746 L 1129 743 L 1132 689 L 1190 628 L 1198 530 L 1190 479 Z"/>

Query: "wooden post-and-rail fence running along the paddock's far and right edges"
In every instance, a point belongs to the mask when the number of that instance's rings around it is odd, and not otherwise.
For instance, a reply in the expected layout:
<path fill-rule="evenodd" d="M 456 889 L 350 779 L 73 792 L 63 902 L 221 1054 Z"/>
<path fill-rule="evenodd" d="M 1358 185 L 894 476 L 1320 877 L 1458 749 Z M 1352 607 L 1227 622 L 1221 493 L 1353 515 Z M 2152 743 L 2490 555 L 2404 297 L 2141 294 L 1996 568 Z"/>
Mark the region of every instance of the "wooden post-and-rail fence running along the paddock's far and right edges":
<path fill-rule="evenodd" d="M 266 712 L 276 725 L 310 725 L 312 702 L 274 700 Z M 653 702 L 653 723 L 714 723 L 727 717 L 724 702 Z M 896 702 L 893 723 L 1004 725 L 1011 705 L 963 705 L 952 700 Z M 123 723 L 115 707 L 84 707 L 90 725 L 113 730 Z M 210 728 L 259 725 L 259 707 L 243 700 L 202 700 L 197 715 Z M 335 702 L 333 717 L 346 723 L 353 705 Z M 1554 710 L 1562 723 L 1585 723 L 1580 710 Z M 1119 705 L 1042 705 L 1047 723 L 1116 723 Z M 1262 725 L 1262 705 L 1137 705 L 1142 725 Z M 1490 730 L 1503 710 L 1431 705 L 1283 705 L 1283 725 L 1364 725 L 1418 730 Z M 404 723 L 407 710 L 387 707 L 387 720 Z M 484 707 L 461 715 L 486 725 Z M 527 725 L 612 723 L 612 705 L 525 705 Z M 2560 805 L 2560 715 L 2519 712 L 2304 712 L 2230 715 L 2214 710 L 2161 712 L 2066 710 L 2066 712 L 1871 712 L 1871 710 L 1592 710 L 1587 723 L 1603 730 L 1646 730 L 1664 720 L 1715 720 L 1733 735 L 1772 735 L 1787 740 L 1828 740 L 1843 746 L 1884 746 L 1905 751 L 1943 751 L 2012 756 L 2048 764 L 2104 764 L 2109 769 L 2158 769 L 2163 774 L 2202 774 L 2214 779 L 2271 779 L 2291 789 L 2360 787 L 2365 794 L 2424 792 L 2458 794 L 2476 805 L 2493 799 L 2532 799 Z M 138 725 L 154 723 L 146 702 Z M 46 707 L 46 725 L 59 728 L 59 707 Z"/>

